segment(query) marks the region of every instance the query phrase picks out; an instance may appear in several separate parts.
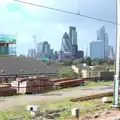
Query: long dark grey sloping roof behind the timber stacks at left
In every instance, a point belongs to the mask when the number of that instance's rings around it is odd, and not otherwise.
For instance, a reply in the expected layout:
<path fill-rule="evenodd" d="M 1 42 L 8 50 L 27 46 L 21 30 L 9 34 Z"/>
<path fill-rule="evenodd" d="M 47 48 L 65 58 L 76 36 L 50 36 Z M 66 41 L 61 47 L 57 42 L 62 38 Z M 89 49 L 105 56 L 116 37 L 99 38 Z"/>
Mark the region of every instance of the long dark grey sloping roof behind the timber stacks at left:
<path fill-rule="evenodd" d="M 56 70 L 34 58 L 0 57 L 0 75 L 55 74 Z"/>

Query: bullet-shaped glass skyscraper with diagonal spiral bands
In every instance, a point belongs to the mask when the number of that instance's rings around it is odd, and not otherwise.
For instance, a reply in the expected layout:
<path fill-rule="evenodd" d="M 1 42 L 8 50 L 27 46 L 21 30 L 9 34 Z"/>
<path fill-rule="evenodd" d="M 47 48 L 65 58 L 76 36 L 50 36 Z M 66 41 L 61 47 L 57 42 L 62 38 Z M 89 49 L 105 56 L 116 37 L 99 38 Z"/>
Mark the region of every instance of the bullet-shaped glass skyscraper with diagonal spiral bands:
<path fill-rule="evenodd" d="M 62 45 L 61 45 L 61 51 L 65 52 L 70 52 L 72 51 L 72 44 L 69 38 L 69 35 L 67 32 L 64 33 L 63 38 L 62 38 Z"/>

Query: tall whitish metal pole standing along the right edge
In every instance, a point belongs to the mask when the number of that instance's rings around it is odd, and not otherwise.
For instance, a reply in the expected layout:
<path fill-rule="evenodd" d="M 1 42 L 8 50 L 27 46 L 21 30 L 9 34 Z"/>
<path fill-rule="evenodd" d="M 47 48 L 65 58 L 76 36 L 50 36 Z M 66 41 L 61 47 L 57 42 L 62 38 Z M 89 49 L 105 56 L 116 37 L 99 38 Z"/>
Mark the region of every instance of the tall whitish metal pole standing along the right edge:
<path fill-rule="evenodd" d="M 116 0 L 116 62 L 114 76 L 113 107 L 119 107 L 119 72 L 120 72 L 120 0 Z"/>

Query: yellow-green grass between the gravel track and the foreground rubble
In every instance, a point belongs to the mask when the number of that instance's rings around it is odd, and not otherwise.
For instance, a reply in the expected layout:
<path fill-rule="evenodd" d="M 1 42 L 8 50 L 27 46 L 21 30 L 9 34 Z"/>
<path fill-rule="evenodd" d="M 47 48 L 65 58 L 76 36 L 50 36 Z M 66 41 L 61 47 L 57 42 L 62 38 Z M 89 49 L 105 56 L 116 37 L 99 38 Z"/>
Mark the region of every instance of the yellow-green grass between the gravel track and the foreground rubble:
<path fill-rule="evenodd" d="M 101 99 L 96 100 L 90 100 L 85 102 L 70 102 L 69 100 L 62 100 L 62 101 L 50 101 L 50 102 L 34 102 L 34 104 L 41 106 L 44 110 L 46 109 L 56 109 L 56 108 L 62 108 L 67 107 L 68 109 L 60 114 L 60 118 L 57 120 L 65 120 L 66 118 L 70 118 L 71 116 L 71 109 L 72 108 L 80 108 L 81 115 L 84 115 L 86 113 L 95 113 L 97 111 L 100 111 L 102 109 L 109 108 L 111 104 L 103 104 Z M 96 105 L 99 105 L 97 107 Z M 26 106 L 16 106 L 12 109 L 1 111 L 0 112 L 0 120 L 8 120 L 9 118 L 13 118 L 15 116 L 24 116 L 27 115 L 28 117 L 25 120 L 30 119 L 29 113 L 25 110 Z"/>

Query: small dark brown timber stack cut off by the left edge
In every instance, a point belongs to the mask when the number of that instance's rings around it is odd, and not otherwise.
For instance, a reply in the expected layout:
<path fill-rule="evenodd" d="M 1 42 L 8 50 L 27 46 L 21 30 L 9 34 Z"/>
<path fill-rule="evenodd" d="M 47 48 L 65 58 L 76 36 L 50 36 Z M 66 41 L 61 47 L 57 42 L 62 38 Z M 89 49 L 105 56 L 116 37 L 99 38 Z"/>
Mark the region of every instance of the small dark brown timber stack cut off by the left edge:
<path fill-rule="evenodd" d="M 16 90 L 9 85 L 0 85 L 0 96 L 11 96 L 16 94 Z"/>

